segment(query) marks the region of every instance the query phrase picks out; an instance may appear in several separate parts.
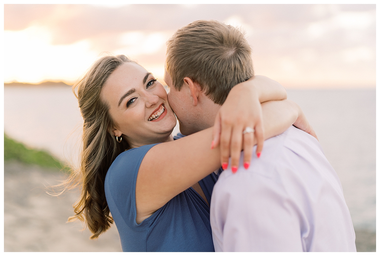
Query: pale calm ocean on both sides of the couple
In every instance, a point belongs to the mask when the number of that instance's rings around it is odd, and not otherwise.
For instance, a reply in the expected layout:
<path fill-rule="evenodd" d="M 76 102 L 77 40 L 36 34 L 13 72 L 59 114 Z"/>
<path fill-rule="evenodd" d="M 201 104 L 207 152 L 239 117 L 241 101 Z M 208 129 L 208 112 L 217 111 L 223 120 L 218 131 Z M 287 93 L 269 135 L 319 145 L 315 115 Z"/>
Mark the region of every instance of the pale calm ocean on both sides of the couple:
<path fill-rule="evenodd" d="M 339 176 L 355 229 L 375 231 L 375 89 L 287 92 L 301 106 Z M 16 141 L 76 164 L 81 124 L 71 87 L 4 88 L 4 130 Z M 173 133 L 178 131 L 176 126 Z"/>

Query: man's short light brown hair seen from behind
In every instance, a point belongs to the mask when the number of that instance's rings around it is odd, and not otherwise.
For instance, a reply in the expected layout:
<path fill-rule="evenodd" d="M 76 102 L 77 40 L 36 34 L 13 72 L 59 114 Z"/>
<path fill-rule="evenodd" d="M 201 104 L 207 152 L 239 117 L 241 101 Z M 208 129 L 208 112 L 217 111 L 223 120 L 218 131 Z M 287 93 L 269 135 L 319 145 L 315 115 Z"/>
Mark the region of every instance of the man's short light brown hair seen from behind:
<path fill-rule="evenodd" d="M 166 43 L 166 70 L 180 90 L 184 78 L 198 82 L 216 104 L 231 88 L 253 76 L 251 47 L 237 28 L 218 21 L 195 21 Z"/>

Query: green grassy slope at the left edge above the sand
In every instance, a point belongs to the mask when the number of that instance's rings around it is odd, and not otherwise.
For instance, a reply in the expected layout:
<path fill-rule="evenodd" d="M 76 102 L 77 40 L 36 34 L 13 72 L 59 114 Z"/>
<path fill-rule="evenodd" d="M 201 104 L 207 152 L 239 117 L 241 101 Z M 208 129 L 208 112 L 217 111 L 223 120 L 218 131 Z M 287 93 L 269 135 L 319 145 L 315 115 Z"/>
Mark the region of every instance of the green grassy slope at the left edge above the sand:
<path fill-rule="evenodd" d="M 43 150 L 28 149 L 24 144 L 14 141 L 4 133 L 4 161 L 18 160 L 26 164 L 37 164 L 46 168 L 65 169 L 65 164 L 55 160 Z"/>

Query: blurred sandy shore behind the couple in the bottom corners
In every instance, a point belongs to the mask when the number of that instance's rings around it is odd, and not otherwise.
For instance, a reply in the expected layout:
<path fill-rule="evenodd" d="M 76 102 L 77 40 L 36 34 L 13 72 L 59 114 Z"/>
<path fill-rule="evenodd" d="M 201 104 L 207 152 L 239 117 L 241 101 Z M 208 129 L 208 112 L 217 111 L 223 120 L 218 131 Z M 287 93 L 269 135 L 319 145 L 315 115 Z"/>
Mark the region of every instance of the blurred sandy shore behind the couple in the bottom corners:
<path fill-rule="evenodd" d="M 4 251 L 121 251 L 112 225 L 98 240 L 90 240 L 81 223 L 66 223 L 73 215 L 75 192 L 52 197 L 45 185 L 64 179 L 58 170 L 25 165 L 4 165 Z M 376 251 L 376 234 L 355 230 L 357 251 Z"/>

